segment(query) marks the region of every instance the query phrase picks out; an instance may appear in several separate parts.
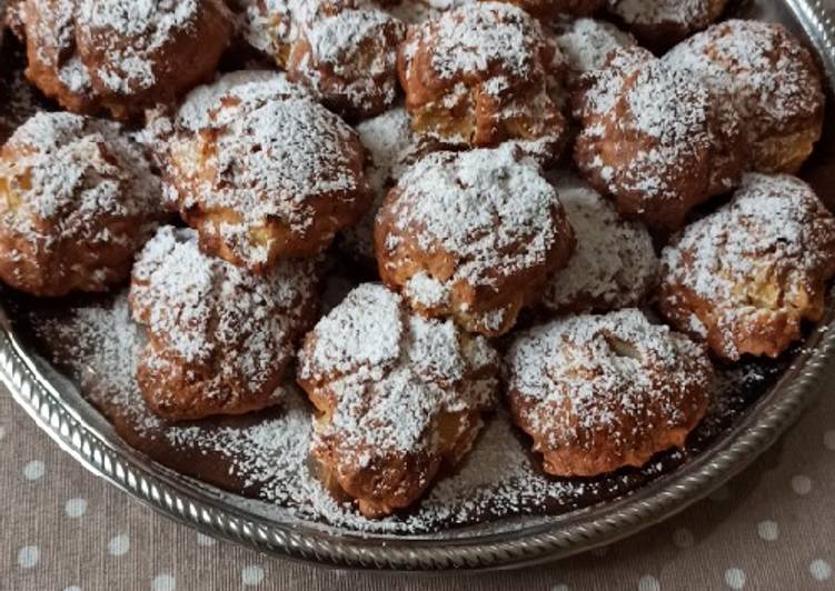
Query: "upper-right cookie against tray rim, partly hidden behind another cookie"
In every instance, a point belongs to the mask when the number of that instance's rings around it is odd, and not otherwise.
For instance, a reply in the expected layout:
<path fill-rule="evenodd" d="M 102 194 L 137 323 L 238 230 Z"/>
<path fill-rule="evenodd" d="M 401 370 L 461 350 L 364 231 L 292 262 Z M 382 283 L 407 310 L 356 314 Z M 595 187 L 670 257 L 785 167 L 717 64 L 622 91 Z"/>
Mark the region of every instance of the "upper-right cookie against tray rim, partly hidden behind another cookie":
<path fill-rule="evenodd" d="M 782 24 L 729 20 L 664 57 L 734 103 L 758 172 L 796 172 L 821 139 L 824 93 L 812 53 Z"/>

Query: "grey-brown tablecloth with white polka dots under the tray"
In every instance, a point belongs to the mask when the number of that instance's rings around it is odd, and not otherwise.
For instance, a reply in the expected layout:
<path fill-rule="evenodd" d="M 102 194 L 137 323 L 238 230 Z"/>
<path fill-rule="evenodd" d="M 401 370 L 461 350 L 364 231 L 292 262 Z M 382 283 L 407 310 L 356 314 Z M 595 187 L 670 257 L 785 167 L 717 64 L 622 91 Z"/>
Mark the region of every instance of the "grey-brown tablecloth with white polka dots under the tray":
<path fill-rule="evenodd" d="M 679 517 L 553 565 L 458 577 L 316 569 L 201 535 L 86 472 L 0 388 L 0 589 L 835 590 L 834 378 L 777 445 Z"/>

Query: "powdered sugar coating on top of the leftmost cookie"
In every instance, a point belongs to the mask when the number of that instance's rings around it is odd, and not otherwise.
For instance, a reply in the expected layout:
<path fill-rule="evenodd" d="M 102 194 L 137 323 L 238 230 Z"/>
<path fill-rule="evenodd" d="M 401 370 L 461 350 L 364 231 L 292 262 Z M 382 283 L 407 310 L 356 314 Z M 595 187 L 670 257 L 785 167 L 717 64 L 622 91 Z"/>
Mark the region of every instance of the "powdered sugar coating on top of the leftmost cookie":
<path fill-rule="evenodd" d="M 2 224 L 37 250 L 49 251 L 64 239 L 128 240 L 106 219 L 156 224 L 159 180 L 117 123 L 40 112 L 18 128 L 2 154 L 0 178 L 19 203 L 4 208 Z"/>

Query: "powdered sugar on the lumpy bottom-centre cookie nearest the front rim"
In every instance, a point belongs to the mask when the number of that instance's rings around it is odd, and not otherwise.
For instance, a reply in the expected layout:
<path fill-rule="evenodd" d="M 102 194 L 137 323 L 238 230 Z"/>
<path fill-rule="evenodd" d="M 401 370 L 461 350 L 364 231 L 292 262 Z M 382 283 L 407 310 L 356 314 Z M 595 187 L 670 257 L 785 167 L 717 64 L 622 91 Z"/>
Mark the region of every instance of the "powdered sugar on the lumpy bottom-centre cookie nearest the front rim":
<path fill-rule="evenodd" d="M 317 438 L 338 440 L 345 454 L 434 453 L 433 424 L 441 413 L 495 401 L 495 374 L 470 374 L 495 367 L 496 353 L 483 338 L 466 347 L 463 339 L 451 321 L 411 314 L 382 286 L 356 288 L 300 353 L 300 380 L 335 398 L 334 417 Z"/>

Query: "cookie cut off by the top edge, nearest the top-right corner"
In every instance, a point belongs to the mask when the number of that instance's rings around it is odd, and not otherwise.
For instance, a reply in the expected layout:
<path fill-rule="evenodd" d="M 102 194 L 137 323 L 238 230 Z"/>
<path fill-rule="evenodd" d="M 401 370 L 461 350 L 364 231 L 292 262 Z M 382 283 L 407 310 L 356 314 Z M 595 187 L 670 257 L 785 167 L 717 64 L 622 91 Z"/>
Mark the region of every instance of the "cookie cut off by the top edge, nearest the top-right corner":
<path fill-rule="evenodd" d="M 728 0 L 606 0 L 606 9 L 654 50 L 674 46 L 717 20 Z"/>

